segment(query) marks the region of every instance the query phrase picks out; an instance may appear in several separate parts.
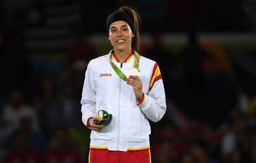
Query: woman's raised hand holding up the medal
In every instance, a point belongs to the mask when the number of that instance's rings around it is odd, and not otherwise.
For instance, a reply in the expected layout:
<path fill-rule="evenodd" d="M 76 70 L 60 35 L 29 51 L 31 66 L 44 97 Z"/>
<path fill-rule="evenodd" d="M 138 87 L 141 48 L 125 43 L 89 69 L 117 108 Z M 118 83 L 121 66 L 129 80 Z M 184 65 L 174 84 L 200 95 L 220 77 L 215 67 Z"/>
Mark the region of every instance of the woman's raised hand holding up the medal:
<path fill-rule="evenodd" d="M 139 76 L 129 76 L 126 82 L 134 88 L 135 97 L 137 99 L 142 98 L 142 81 L 140 81 Z"/>

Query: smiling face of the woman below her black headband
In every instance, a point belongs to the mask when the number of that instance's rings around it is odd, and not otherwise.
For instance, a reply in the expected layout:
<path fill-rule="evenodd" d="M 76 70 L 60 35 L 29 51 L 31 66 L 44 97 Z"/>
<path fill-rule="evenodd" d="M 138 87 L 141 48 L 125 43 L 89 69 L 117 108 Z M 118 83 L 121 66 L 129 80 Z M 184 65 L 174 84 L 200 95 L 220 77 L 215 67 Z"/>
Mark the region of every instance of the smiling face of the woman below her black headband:
<path fill-rule="evenodd" d="M 109 26 L 109 40 L 116 50 L 130 49 L 132 46 L 132 30 L 128 23 L 124 21 L 113 22 Z"/>

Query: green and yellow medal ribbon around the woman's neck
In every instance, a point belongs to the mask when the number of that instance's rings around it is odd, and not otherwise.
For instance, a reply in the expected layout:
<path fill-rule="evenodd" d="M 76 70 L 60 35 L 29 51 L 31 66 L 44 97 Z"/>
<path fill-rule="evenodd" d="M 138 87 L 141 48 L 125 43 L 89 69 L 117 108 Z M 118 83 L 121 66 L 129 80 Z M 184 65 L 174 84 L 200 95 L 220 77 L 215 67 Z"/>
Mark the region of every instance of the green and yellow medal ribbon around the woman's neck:
<path fill-rule="evenodd" d="M 124 81 L 126 81 L 126 75 L 124 74 L 124 73 L 122 73 L 122 71 L 119 69 L 119 68 L 117 68 L 117 66 L 116 65 L 114 65 L 114 63 L 112 62 L 112 60 L 111 60 L 111 57 L 112 57 L 112 52 L 113 52 L 113 50 L 111 50 L 110 52 L 109 52 L 109 63 L 110 63 L 110 65 L 112 66 L 112 68 L 114 69 L 114 71 L 116 72 L 116 74 L 122 79 L 122 80 L 124 80 Z M 136 68 L 138 71 L 140 71 L 139 70 L 139 62 L 140 62 L 140 55 L 134 50 L 134 68 Z"/>

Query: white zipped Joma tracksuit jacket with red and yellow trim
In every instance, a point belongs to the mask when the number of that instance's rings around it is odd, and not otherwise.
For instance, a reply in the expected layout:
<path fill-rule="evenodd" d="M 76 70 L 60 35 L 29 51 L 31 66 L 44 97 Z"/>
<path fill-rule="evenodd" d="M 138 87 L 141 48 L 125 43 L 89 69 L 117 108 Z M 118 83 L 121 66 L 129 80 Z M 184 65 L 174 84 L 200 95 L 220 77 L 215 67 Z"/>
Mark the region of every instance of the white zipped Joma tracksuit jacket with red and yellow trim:
<path fill-rule="evenodd" d="M 140 80 L 143 84 L 143 99 L 137 101 L 132 86 L 123 81 L 109 63 L 108 55 L 88 63 L 82 91 L 82 121 L 87 125 L 89 117 L 104 109 L 113 115 L 109 125 L 100 132 L 92 131 L 90 148 L 127 151 L 150 148 L 151 133 L 148 119 L 160 121 L 166 111 L 165 93 L 160 69 L 156 62 L 140 56 Z M 134 54 L 125 63 L 113 63 L 122 71 L 134 65 Z"/>

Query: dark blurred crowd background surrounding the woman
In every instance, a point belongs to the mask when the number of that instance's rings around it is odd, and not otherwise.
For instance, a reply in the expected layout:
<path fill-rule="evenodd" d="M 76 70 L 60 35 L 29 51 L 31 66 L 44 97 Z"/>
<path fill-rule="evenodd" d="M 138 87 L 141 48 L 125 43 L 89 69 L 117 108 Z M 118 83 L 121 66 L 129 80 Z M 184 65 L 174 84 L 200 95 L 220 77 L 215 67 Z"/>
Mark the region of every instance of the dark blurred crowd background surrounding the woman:
<path fill-rule="evenodd" d="M 254 0 L 1 1 L 0 162 L 88 162 L 84 74 L 111 49 L 106 17 L 124 4 L 166 90 L 152 162 L 256 162 Z"/>

